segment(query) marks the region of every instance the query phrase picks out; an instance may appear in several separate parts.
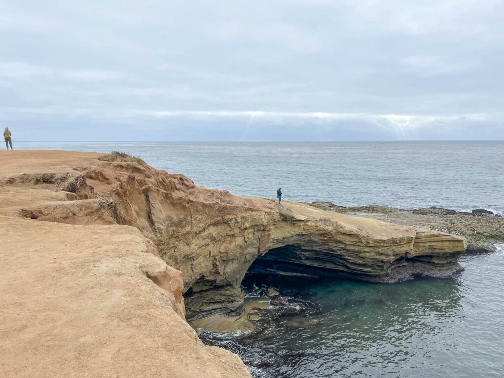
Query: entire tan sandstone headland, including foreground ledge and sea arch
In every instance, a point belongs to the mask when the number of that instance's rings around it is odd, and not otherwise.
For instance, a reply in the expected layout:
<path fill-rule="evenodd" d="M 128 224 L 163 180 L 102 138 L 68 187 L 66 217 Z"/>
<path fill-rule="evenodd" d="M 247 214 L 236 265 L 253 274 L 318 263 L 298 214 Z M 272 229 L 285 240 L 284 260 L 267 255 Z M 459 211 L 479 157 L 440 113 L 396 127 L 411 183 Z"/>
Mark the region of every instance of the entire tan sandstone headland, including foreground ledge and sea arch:
<path fill-rule="evenodd" d="M 2 376 L 249 377 L 185 319 L 240 311 L 257 259 L 372 282 L 463 270 L 463 237 L 235 197 L 121 154 L 0 159 Z"/>

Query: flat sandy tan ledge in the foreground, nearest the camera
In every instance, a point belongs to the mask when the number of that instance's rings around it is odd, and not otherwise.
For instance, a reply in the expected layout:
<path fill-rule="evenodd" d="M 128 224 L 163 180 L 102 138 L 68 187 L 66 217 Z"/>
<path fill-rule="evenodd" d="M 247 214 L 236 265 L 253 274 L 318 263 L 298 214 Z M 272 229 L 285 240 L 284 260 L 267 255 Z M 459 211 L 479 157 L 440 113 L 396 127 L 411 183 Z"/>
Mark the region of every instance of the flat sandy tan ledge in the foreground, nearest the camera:
<path fill-rule="evenodd" d="M 187 325 L 180 272 L 137 229 L 6 216 L 0 229 L 0 376 L 250 376 Z"/>

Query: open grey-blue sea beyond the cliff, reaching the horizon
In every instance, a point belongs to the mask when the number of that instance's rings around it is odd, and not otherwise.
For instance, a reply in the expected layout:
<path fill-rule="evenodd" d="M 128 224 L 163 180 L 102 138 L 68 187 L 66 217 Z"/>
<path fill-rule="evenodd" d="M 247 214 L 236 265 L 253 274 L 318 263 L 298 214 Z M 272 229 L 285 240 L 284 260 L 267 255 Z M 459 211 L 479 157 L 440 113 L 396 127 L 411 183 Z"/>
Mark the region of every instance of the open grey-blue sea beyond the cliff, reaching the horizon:
<path fill-rule="evenodd" d="M 130 151 L 158 169 L 239 196 L 342 206 L 504 211 L 504 142 L 17 142 Z"/>

